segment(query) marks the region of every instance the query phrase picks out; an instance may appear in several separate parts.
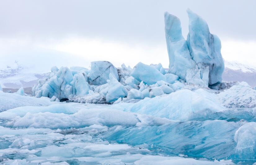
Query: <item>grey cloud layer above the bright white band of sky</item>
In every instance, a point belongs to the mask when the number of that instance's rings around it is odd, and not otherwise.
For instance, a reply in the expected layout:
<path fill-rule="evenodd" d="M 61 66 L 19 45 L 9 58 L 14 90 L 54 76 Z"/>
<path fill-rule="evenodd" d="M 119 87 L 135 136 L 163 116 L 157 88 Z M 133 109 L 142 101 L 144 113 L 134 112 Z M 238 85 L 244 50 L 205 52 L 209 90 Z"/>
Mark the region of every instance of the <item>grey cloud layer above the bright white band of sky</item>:
<path fill-rule="evenodd" d="M 256 1 L 84 1 L 24 0 L 0 2 L 0 37 L 58 39 L 67 35 L 124 42 L 165 42 L 164 11 L 181 19 L 186 9 L 201 15 L 211 33 L 222 38 L 256 40 Z"/>

